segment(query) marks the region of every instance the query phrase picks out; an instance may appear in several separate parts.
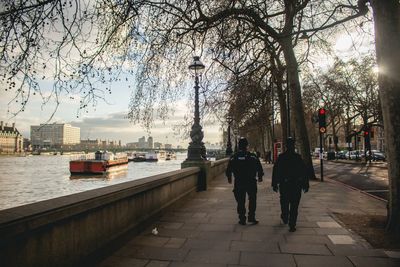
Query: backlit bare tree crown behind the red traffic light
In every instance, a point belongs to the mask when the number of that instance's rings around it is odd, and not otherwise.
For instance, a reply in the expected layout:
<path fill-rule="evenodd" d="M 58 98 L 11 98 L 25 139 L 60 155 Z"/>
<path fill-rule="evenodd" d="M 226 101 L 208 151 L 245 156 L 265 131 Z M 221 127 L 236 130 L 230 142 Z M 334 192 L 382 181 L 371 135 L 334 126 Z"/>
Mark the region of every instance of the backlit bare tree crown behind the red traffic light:
<path fill-rule="evenodd" d="M 371 126 L 382 127 L 375 67 L 375 60 L 370 56 L 347 62 L 336 59 L 326 72 L 309 77 L 304 87 L 306 106 L 315 111 L 319 101 L 324 102 L 328 111 L 327 125 L 332 128 L 334 137 L 339 128 L 349 128 L 352 120 L 361 121 L 358 132 Z M 350 129 L 346 131 L 346 135 L 349 134 Z M 337 150 L 337 146 L 335 148 Z"/>

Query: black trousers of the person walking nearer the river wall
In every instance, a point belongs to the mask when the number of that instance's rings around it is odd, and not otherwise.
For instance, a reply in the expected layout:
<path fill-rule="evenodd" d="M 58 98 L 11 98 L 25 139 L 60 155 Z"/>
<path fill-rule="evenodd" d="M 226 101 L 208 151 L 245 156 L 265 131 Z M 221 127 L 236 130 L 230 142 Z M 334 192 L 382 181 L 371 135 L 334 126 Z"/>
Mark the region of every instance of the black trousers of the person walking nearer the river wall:
<path fill-rule="evenodd" d="M 249 197 L 248 218 L 254 220 L 257 206 L 257 181 L 246 184 L 235 183 L 233 194 L 237 202 L 239 220 L 246 220 L 246 194 Z"/>

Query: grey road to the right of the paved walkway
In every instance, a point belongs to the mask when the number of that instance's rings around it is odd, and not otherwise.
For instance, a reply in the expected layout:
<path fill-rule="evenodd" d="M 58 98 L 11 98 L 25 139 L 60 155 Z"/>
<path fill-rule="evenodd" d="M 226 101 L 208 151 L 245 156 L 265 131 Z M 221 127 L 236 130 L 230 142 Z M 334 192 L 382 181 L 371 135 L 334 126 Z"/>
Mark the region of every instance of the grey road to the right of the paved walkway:
<path fill-rule="evenodd" d="M 319 176 L 319 160 L 314 161 L 314 169 Z M 324 160 L 324 177 L 345 183 L 385 200 L 389 198 L 389 180 L 385 167 Z"/>

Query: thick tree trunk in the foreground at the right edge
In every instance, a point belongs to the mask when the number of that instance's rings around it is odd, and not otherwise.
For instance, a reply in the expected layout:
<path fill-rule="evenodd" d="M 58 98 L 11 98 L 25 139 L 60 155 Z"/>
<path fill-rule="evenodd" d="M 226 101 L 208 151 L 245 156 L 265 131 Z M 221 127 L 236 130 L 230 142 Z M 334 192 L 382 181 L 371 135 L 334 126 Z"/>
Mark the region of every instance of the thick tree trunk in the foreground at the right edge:
<path fill-rule="evenodd" d="M 370 1 L 375 24 L 379 92 L 388 157 L 389 205 L 387 230 L 400 238 L 400 3 Z"/>

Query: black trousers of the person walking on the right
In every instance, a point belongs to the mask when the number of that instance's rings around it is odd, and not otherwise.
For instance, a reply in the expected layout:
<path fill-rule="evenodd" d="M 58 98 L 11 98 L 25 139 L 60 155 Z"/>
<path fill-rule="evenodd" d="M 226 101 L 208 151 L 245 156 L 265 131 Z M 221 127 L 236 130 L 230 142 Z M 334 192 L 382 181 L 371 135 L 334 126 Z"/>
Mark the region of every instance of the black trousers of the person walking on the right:
<path fill-rule="evenodd" d="M 301 186 L 281 183 L 279 185 L 281 216 L 289 219 L 289 226 L 296 226 L 298 208 L 301 198 Z"/>

